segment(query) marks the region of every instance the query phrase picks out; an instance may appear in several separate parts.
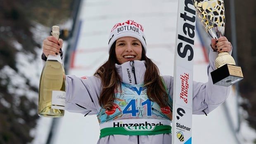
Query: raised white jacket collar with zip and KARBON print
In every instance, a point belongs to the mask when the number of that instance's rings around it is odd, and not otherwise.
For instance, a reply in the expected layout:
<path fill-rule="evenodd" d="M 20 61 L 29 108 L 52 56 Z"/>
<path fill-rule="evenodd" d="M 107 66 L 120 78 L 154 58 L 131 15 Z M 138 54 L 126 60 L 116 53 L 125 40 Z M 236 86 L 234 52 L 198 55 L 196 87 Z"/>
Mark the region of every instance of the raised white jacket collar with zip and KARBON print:
<path fill-rule="evenodd" d="M 135 74 L 133 73 L 133 62 Z M 144 82 L 144 75 L 146 71 L 145 61 L 135 60 L 127 61 L 123 64 L 116 64 L 116 71 L 123 83 L 130 85 L 141 84 Z"/>

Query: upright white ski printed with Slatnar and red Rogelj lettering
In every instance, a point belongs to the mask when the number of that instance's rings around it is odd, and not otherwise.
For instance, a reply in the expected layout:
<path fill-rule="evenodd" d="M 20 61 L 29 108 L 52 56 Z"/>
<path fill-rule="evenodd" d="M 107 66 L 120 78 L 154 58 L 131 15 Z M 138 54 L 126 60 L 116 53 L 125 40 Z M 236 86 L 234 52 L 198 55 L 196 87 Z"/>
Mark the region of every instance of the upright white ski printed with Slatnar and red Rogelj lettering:
<path fill-rule="evenodd" d="M 193 58 L 196 25 L 196 11 L 192 0 L 178 0 L 177 16 L 172 144 L 191 144 Z"/>

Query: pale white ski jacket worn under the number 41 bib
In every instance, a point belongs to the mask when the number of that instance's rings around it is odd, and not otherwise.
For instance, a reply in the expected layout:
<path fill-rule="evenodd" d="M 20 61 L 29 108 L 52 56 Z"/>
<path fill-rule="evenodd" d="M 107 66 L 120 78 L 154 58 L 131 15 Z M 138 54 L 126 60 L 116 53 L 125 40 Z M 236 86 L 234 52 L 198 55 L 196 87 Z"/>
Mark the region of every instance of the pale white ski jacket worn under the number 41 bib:
<path fill-rule="evenodd" d="M 230 52 L 231 53 L 231 52 Z M 193 82 L 193 114 L 209 113 L 216 109 L 228 98 L 230 87 L 213 85 L 211 71 L 215 69 L 214 61 L 218 52 L 210 50 L 208 66 L 209 80 L 207 83 Z M 144 61 L 135 61 L 135 74 L 137 83 L 143 83 L 145 64 Z M 130 68 L 130 62 L 121 65 L 116 64 L 116 70 L 123 83 L 134 83 L 133 75 L 127 76 L 126 68 Z M 163 76 L 169 95 L 173 96 L 173 76 Z M 101 80 L 96 76 L 78 78 L 66 76 L 66 110 L 84 115 L 97 114 L 102 107 L 99 104 L 100 92 L 102 90 Z M 204 111 L 204 112 L 203 112 Z M 160 135 L 110 135 L 98 140 L 97 144 L 170 144 L 171 134 Z"/>

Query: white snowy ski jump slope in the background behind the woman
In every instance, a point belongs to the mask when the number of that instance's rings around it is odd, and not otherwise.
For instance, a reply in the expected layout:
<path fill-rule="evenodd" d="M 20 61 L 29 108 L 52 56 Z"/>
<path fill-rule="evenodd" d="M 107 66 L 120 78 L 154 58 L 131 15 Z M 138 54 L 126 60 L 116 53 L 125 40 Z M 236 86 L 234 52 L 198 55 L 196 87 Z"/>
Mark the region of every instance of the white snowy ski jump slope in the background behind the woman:
<path fill-rule="evenodd" d="M 107 42 L 111 28 L 118 22 L 132 19 L 144 26 L 147 56 L 154 60 L 162 75 L 173 76 L 177 5 L 178 0 L 84 0 L 78 15 L 80 33 L 77 45 L 73 48 L 73 53 L 70 53 L 73 60 L 68 74 L 78 77 L 93 75 L 107 60 Z M 198 33 L 195 46 L 194 80 L 206 82 L 208 64 Z M 250 140 L 244 142 L 244 139 L 248 140 L 248 136 L 253 139 L 256 134 L 248 126 L 243 126 L 246 125 L 244 120 L 239 134 L 233 131 L 238 125 L 235 90 L 225 106 L 219 106 L 208 116 L 193 116 L 193 144 L 239 144 L 238 140 L 242 144 L 251 143 Z M 82 114 L 66 111 L 57 127 L 52 144 L 95 144 L 99 138 L 96 116 L 84 117 Z M 34 142 L 38 143 L 44 142 Z"/>

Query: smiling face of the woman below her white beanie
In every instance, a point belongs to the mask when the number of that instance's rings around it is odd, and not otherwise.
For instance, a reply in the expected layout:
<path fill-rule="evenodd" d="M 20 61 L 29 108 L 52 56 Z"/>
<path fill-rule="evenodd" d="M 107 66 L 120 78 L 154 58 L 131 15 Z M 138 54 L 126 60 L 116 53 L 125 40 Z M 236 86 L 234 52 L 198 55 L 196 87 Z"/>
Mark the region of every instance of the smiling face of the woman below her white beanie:
<path fill-rule="evenodd" d="M 133 37 L 122 37 L 116 40 L 116 59 L 120 64 L 127 61 L 141 60 L 142 45 Z"/>

